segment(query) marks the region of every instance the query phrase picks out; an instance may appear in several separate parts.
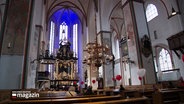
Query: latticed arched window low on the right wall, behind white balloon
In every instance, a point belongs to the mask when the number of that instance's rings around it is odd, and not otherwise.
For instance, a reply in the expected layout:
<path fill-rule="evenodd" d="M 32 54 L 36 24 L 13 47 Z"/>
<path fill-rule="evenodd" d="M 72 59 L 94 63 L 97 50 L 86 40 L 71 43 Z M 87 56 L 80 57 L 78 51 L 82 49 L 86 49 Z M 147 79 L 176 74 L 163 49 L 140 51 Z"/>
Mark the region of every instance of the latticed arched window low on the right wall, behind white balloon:
<path fill-rule="evenodd" d="M 161 71 L 172 69 L 171 56 L 169 52 L 164 48 L 162 48 L 159 53 L 159 64 Z"/>

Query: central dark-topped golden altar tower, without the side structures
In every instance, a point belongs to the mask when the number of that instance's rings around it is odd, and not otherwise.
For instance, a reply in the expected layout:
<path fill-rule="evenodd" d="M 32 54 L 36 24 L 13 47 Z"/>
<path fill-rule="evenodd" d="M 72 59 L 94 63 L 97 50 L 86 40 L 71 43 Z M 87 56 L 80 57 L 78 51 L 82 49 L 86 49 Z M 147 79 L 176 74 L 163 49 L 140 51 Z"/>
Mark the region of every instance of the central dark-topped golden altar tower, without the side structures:
<path fill-rule="evenodd" d="M 77 57 L 74 57 L 74 52 L 70 50 L 71 43 L 67 39 L 61 40 L 56 56 L 56 72 L 55 79 L 68 80 L 76 76 L 74 66 Z"/>

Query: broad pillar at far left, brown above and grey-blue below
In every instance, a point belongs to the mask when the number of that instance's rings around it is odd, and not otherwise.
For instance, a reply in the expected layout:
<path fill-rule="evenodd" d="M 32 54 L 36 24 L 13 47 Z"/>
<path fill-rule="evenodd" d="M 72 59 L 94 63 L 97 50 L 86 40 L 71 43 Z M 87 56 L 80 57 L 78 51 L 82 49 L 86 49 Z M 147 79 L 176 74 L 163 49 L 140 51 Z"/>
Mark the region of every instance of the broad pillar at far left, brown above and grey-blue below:
<path fill-rule="evenodd" d="M 10 0 L 3 27 L 0 89 L 24 88 L 32 1 Z"/>

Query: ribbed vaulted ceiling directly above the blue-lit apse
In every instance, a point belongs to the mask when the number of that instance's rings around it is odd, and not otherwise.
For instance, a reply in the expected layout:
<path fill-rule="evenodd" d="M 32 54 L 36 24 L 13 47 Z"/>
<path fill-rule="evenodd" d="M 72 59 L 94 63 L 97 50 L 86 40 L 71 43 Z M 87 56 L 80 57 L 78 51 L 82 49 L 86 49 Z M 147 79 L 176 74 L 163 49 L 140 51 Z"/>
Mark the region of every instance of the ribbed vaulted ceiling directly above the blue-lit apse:
<path fill-rule="evenodd" d="M 95 0 L 46 0 L 47 21 L 59 9 L 71 9 L 78 14 L 80 20 L 87 19 L 89 6 Z"/>

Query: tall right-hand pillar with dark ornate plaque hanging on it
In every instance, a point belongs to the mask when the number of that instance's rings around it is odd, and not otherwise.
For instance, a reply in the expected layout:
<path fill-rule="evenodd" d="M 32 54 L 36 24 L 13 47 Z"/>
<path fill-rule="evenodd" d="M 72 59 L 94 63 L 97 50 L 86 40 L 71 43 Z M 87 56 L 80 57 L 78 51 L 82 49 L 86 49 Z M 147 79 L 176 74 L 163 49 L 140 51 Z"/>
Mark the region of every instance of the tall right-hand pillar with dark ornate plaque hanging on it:
<path fill-rule="evenodd" d="M 144 5 L 142 2 L 130 0 L 123 4 L 122 10 L 125 19 L 126 35 L 130 39 L 128 41 L 129 58 L 134 61 L 134 65 L 131 66 L 131 82 L 139 84 L 137 72 L 139 69 L 144 68 L 146 69 L 145 84 L 156 83 L 153 53 Z"/>

